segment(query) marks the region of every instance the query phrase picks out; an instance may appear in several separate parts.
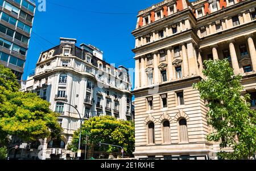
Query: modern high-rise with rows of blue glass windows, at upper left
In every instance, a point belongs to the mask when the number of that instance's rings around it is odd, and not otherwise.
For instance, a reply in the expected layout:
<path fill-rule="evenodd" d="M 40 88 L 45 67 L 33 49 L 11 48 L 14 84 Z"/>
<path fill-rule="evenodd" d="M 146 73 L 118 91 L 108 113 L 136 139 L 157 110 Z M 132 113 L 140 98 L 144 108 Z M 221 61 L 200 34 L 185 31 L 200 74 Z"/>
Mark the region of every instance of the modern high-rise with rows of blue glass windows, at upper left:
<path fill-rule="evenodd" d="M 0 0 L 0 64 L 11 69 L 20 83 L 35 15 L 35 2 Z"/>

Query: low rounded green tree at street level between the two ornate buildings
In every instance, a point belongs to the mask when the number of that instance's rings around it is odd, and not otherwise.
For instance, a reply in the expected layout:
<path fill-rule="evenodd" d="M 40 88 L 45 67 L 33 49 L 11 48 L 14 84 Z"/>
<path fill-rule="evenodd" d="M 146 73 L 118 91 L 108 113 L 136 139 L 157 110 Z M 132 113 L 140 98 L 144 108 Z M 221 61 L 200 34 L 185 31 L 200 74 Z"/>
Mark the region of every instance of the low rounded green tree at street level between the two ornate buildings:
<path fill-rule="evenodd" d="M 77 151 L 79 144 L 80 129 L 73 135 L 69 149 Z M 134 151 L 134 123 L 123 121 L 110 116 L 93 117 L 82 125 L 81 144 L 85 144 L 86 134 L 88 135 L 88 148 L 101 143 L 114 144 L 123 147 L 126 156 L 133 156 Z M 101 146 L 100 151 L 108 153 L 120 152 L 121 149 L 113 146 Z"/>

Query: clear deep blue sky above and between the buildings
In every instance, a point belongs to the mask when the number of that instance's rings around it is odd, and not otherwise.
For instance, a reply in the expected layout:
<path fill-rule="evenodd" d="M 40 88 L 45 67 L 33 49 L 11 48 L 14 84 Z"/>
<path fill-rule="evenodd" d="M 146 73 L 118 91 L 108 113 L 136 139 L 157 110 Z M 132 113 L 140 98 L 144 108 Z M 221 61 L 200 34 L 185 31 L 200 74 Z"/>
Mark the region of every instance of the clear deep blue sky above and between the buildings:
<path fill-rule="evenodd" d="M 159 0 L 46 0 L 46 12 L 36 10 L 23 79 L 35 69 L 40 52 L 59 44 L 60 37 L 97 46 L 108 63 L 133 68 L 139 10 Z M 38 5 L 38 3 L 37 3 Z M 109 14 L 110 13 L 110 14 Z"/>

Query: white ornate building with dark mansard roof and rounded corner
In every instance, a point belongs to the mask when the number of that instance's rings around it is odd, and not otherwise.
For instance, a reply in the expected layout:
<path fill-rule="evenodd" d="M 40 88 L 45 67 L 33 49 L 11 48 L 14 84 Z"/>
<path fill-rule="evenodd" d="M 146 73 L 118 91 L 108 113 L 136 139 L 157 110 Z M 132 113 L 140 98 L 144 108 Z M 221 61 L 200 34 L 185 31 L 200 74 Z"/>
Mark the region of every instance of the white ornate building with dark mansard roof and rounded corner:
<path fill-rule="evenodd" d="M 49 101 L 50 108 L 60 113 L 59 123 L 64 129 L 61 140 L 40 141 L 43 159 L 73 156 L 67 145 L 80 128 L 80 119 L 76 110 L 63 102 L 73 105 L 84 119 L 106 115 L 133 119 L 129 71 L 106 63 L 102 57 L 98 48 L 85 44 L 78 47 L 76 39 L 67 38 L 40 54 L 35 75 L 28 78 L 24 91 L 36 92 Z M 60 152 L 51 155 L 51 149 Z"/>

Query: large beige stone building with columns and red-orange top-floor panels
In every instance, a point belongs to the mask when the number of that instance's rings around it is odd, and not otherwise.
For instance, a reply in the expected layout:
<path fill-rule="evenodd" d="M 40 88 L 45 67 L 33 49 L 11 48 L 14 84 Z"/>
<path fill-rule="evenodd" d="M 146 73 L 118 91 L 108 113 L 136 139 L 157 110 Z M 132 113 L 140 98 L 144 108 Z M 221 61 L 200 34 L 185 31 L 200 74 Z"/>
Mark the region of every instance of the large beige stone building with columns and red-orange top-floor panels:
<path fill-rule="evenodd" d="M 228 58 L 256 97 L 256 1 L 166 0 L 139 11 L 135 37 L 135 157 L 216 159 L 208 109 L 192 84 L 203 61 Z"/>

